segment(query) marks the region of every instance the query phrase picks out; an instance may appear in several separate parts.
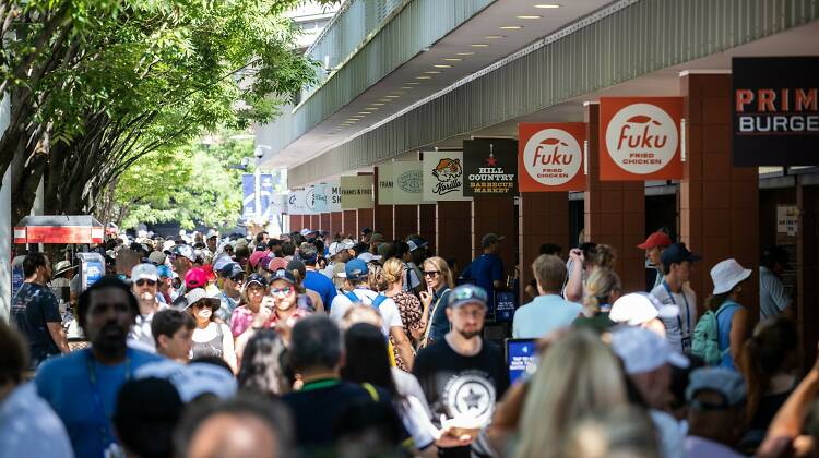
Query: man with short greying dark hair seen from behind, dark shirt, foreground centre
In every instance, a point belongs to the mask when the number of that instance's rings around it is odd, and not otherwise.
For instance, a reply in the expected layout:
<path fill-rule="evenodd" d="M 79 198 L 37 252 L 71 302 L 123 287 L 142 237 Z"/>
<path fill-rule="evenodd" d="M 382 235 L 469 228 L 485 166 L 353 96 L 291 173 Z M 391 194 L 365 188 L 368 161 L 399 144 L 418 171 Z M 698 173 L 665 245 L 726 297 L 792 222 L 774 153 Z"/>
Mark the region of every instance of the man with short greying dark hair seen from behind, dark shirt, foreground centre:
<path fill-rule="evenodd" d="M 302 318 L 293 327 L 290 365 L 301 375 L 304 386 L 282 400 L 293 411 L 296 444 L 305 456 L 332 456 L 333 430 L 343 426 L 336 421 L 348 409 L 372 402 L 394 409 L 387 390 L 341 379 L 342 346 L 341 329 L 324 314 Z M 402 445 L 412 448 L 412 437 L 403 424 L 393 426 L 401 432 Z"/>

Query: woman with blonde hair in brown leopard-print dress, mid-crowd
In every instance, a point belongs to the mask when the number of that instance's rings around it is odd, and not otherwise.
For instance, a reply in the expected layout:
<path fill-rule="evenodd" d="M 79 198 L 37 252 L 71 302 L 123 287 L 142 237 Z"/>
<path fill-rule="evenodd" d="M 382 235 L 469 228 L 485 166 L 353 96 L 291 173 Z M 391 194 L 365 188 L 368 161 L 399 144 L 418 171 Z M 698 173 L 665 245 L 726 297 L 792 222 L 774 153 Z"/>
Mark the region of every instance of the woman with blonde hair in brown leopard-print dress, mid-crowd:
<path fill-rule="evenodd" d="M 396 257 L 387 260 L 384 267 L 381 269 L 381 277 L 387 284 L 384 296 L 392 299 L 399 306 L 401 322 L 404 324 L 404 334 L 410 337 L 410 343 L 415 348 L 424 336 L 424 326 L 422 317 L 429 312 L 423 309 L 420 301 L 411 291 L 404 290 L 404 278 L 406 277 L 406 264 Z M 392 337 L 390 337 L 392 340 Z M 395 351 L 395 342 L 392 343 L 395 353 L 395 365 L 402 371 L 410 372 L 412 367 Z"/>

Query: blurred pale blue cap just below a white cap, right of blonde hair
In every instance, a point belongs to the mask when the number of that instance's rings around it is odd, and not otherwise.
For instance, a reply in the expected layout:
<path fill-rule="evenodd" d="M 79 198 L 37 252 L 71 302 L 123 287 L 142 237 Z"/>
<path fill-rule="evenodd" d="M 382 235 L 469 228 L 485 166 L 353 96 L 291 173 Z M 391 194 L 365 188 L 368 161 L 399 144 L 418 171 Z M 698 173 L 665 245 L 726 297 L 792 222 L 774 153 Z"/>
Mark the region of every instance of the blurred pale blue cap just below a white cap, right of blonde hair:
<path fill-rule="evenodd" d="M 612 349 L 622 360 L 626 373 L 652 372 L 665 364 L 688 367 L 688 358 L 672 348 L 668 340 L 642 327 L 622 326 L 612 333 Z"/>

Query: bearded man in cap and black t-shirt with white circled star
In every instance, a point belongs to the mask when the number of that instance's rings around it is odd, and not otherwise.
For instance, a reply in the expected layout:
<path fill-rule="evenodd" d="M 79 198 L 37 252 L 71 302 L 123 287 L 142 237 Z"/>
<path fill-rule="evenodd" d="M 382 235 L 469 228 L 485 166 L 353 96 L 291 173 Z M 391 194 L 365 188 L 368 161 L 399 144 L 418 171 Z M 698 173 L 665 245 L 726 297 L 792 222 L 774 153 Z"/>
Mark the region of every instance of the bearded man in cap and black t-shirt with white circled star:
<path fill-rule="evenodd" d="M 509 387 L 500 349 L 480 336 L 487 302 L 480 287 L 462 285 L 453 289 L 447 304 L 452 330 L 415 359 L 413 374 L 424 388 L 438 426 L 442 414 L 458 426 L 488 425 L 495 402 Z M 440 448 L 440 456 L 468 457 L 470 447 Z"/>

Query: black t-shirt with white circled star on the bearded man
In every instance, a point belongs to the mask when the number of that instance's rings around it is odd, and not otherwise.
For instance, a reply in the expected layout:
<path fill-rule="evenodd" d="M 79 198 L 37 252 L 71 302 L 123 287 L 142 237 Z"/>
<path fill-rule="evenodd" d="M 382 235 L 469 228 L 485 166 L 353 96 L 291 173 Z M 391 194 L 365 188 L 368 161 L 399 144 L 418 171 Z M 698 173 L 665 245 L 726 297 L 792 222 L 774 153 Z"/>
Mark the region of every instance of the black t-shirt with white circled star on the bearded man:
<path fill-rule="evenodd" d="M 495 403 L 509 387 L 509 373 L 500 349 L 484 339 L 474 357 L 456 353 L 446 339 L 422 350 L 413 365 L 440 427 L 441 414 L 489 422 Z M 442 449 L 441 456 L 468 456 L 470 447 Z"/>

